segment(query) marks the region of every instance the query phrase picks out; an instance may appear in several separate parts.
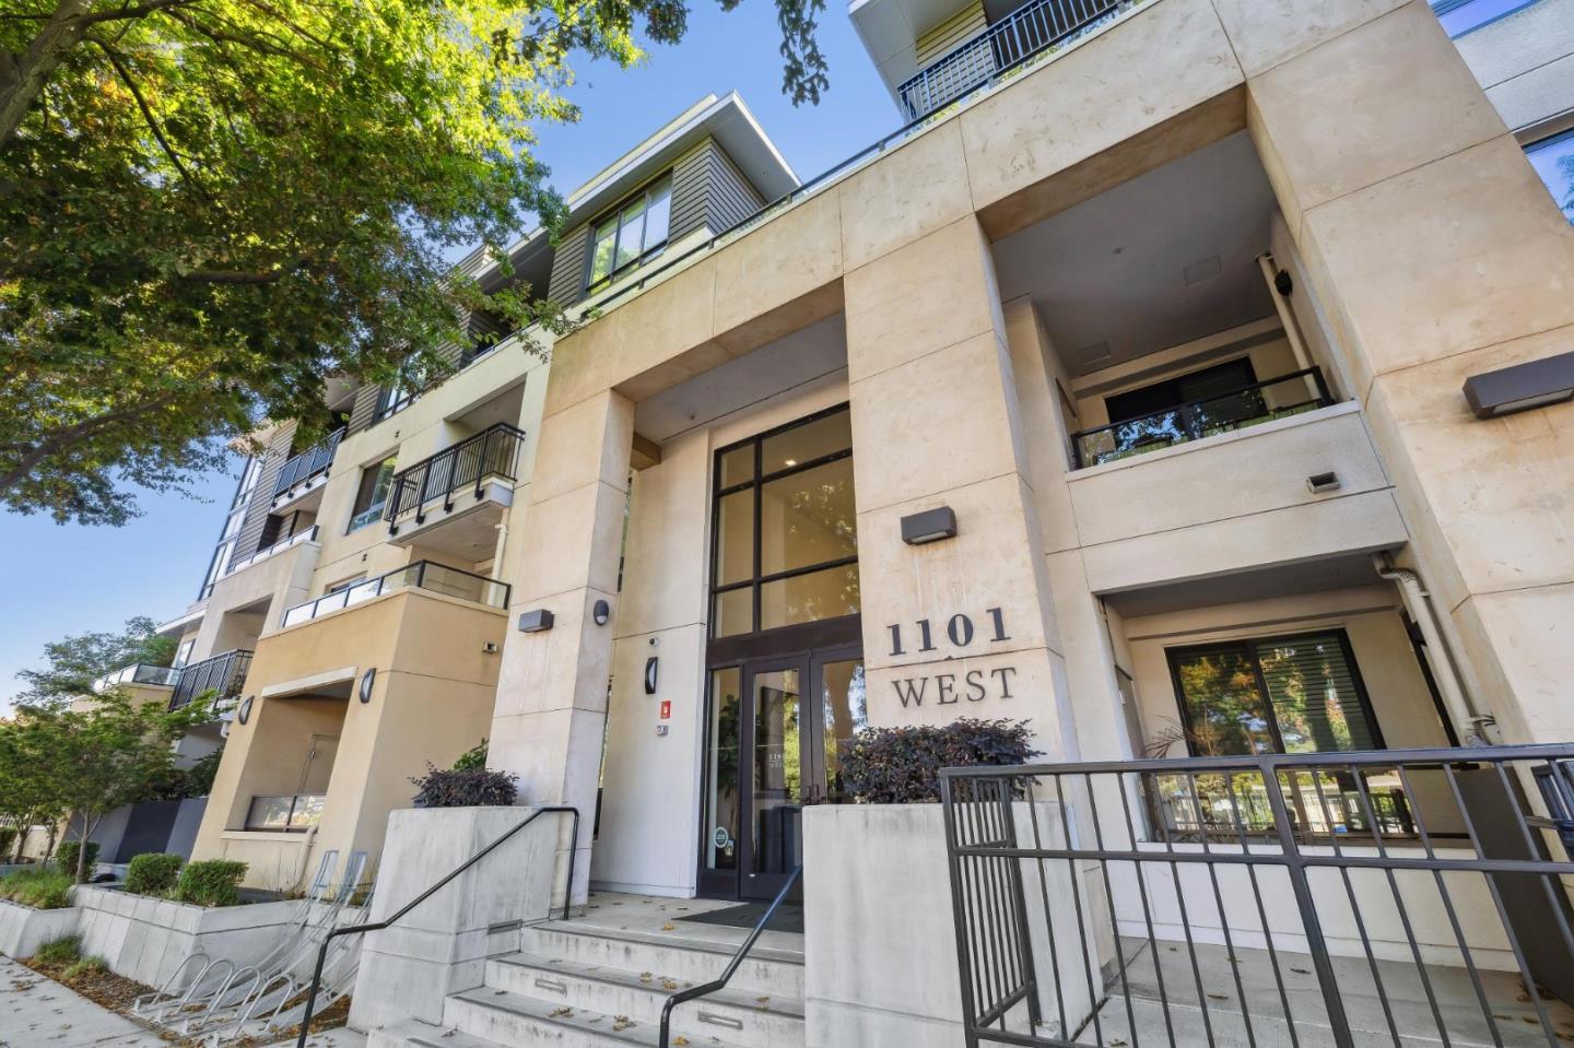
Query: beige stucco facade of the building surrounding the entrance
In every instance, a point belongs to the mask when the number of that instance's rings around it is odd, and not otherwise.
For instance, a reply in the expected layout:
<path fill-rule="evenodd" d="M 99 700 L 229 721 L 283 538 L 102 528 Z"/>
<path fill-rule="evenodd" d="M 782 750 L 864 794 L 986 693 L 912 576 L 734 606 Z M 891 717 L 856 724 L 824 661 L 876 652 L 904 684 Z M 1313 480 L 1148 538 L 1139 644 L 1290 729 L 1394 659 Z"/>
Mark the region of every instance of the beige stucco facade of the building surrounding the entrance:
<path fill-rule="evenodd" d="M 1265 186 L 1250 274 L 1272 255 L 1294 291 L 1275 304 L 1254 275 L 1251 308 L 1215 301 L 1228 321 L 1089 365 L 1053 334 L 1075 308 L 1042 293 L 1053 260 L 1007 242 L 1218 151 Z M 1100 234 L 1111 250 L 1135 236 Z M 1574 230 L 1421 0 L 1151 0 L 667 260 L 549 363 L 507 343 L 346 436 L 318 538 L 220 582 L 209 618 L 242 576 L 271 579 L 235 598 L 266 598 L 255 705 L 230 725 L 200 856 L 246 858 L 261 884 L 313 850 L 375 854 L 408 776 L 486 736 L 526 801 L 600 807 L 582 880 L 699 891 L 716 452 L 839 404 L 869 724 L 1026 718 L 1050 760 L 1129 758 L 1182 716 L 1166 651 L 1332 629 L 1390 747 L 1574 736 L 1574 406 L 1480 420 L 1461 392 L 1566 351 Z M 1073 456 L 1111 397 L 1231 360 L 1264 379 L 1317 368 L 1325 403 Z M 491 548 L 343 532 L 362 469 L 497 420 L 524 441 L 507 504 L 477 510 Z M 938 507 L 957 535 L 907 544 L 902 518 Z M 1420 606 L 1374 554 L 1420 576 Z M 507 614 L 403 590 L 280 626 L 288 606 L 422 559 L 512 585 Z M 551 629 L 513 626 L 532 611 Z M 946 634 L 957 615 L 976 626 L 965 642 Z M 1421 650 L 1407 622 L 1428 615 L 1440 644 Z M 331 732 L 315 834 L 249 832 L 250 799 L 307 792 L 304 746 Z"/>

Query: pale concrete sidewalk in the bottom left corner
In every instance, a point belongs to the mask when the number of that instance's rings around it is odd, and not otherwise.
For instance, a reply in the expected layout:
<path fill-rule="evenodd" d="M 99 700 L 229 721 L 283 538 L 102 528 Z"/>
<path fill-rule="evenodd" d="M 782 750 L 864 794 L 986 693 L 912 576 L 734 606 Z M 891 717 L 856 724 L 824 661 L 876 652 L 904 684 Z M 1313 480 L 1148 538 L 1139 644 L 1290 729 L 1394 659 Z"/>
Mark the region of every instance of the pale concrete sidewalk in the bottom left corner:
<path fill-rule="evenodd" d="M 365 1043 L 362 1034 L 348 1029 L 307 1039 L 315 1048 L 364 1048 Z M 0 957 L 0 1048 L 170 1048 L 170 1042 Z"/>

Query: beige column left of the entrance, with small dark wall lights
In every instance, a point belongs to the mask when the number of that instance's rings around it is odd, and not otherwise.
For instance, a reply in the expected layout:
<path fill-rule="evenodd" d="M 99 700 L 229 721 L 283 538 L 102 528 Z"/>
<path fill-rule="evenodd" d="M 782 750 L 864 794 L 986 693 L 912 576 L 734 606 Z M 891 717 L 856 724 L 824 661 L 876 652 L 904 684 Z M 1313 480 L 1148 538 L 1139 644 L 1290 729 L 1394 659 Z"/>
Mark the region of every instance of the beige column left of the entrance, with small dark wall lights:
<path fill-rule="evenodd" d="M 519 576 L 512 600 L 493 713 L 488 763 L 519 776 L 523 804 L 573 804 L 584 897 L 590 875 L 597 776 L 612 664 L 612 626 L 592 617 L 617 601 L 628 505 L 634 406 L 606 390 L 548 415 L 530 477 Z M 552 615 L 551 629 L 521 633 L 519 615 Z"/>

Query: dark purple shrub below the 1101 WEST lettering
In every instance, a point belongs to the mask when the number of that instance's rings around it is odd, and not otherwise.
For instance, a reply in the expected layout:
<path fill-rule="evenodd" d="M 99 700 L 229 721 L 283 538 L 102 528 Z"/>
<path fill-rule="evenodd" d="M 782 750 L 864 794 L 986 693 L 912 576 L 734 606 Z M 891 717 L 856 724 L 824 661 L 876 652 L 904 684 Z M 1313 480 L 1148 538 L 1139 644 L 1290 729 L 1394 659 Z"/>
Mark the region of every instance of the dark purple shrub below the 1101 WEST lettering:
<path fill-rule="evenodd" d="M 1026 721 L 1004 719 L 869 729 L 842 754 L 842 785 L 861 804 L 938 801 L 941 768 L 1023 765 L 1039 755 L 1029 740 Z"/>

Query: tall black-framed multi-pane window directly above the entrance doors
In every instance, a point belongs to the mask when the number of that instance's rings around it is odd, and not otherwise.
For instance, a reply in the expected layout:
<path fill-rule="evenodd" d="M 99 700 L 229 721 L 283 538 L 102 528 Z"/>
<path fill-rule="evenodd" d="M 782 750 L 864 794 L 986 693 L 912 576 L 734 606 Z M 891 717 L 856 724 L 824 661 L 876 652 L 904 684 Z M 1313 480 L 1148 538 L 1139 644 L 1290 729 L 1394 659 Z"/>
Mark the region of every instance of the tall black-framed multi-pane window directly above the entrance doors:
<path fill-rule="evenodd" d="M 847 408 L 716 453 L 711 636 L 856 615 Z"/>

